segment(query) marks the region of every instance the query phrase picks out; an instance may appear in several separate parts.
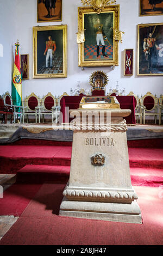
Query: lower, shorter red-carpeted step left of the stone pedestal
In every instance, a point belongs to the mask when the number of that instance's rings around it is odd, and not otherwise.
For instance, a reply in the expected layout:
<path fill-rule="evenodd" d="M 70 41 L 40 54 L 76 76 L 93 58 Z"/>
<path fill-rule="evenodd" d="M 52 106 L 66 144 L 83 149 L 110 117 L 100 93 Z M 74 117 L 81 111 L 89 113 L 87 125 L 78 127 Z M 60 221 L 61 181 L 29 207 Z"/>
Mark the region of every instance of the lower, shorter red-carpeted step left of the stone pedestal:
<path fill-rule="evenodd" d="M 27 164 L 16 174 L 16 183 L 43 184 L 45 182 L 66 182 L 70 166 L 49 166 Z"/>

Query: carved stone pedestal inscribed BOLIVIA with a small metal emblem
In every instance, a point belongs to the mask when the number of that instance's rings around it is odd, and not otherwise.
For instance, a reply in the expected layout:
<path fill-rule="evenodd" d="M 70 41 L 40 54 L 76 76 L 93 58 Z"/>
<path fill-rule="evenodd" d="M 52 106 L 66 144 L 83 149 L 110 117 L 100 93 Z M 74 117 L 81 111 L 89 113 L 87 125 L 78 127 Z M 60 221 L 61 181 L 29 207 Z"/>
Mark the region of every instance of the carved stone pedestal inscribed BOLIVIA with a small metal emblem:
<path fill-rule="evenodd" d="M 79 109 L 81 117 L 84 111 Z M 137 195 L 131 186 L 127 125 L 123 119 L 130 110 L 102 112 L 111 114 L 110 124 L 94 122 L 71 126 L 74 132 L 70 180 L 63 192 L 59 214 L 142 223 Z"/>

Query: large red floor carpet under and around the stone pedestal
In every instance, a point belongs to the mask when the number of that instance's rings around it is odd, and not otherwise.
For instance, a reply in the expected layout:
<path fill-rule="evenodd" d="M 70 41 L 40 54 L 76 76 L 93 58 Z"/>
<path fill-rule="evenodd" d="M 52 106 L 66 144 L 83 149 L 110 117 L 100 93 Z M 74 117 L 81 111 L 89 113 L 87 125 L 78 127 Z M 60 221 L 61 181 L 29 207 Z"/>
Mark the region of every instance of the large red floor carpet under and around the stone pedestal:
<path fill-rule="evenodd" d="M 162 245 L 163 204 L 155 187 L 135 187 L 143 224 L 60 217 L 64 184 L 44 184 L 0 245 Z"/>

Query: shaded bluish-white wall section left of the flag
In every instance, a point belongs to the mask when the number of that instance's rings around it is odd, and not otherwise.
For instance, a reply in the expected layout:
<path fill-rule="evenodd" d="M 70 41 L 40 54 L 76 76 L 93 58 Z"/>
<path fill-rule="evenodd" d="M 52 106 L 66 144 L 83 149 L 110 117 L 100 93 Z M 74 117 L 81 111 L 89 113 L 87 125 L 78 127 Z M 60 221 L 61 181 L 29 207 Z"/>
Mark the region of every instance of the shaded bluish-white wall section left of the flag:
<path fill-rule="evenodd" d="M 11 93 L 11 78 L 17 42 L 17 0 L 0 0 L 0 44 L 3 56 L 0 57 L 0 95 Z"/>

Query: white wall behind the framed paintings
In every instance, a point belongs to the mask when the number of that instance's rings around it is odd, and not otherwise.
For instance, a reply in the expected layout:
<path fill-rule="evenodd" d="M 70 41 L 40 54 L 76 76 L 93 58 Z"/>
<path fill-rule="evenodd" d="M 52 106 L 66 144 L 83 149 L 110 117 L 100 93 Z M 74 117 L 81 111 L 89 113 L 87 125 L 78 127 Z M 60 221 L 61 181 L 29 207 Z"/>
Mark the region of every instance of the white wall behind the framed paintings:
<path fill-rule="evenodd" d="M 8 2 L 7 7 L 5 4 Z M 13 2 L 17 2 L 17 23 L 13 23 L 11 11 L 15 11 Z M 12 65 L 12 47 L 17 40 L 15 29 L 17 29 L 18 40 L 20 41 L 20 54 L 29 54 L 29 80 L 22 82 L 22 96 L 34 92 L 36 95 L 42 96 L 51 92 L 53 95 L 61 95 L 64 92 L 70 93 L 70 88 L 76 88 L 77 81 L 80 81 L 80 86 L 84 89 L 89 88 L 89 77 L 93 71 L 103 70 L 109 76 L 109 83 L 106 87 L 106 92 L 109 87 L 115 88 L 116 81 L 120 84 L 120 88 L 126 88 L 126 92 L 133 91 L 135 94 L 146 94 L 148 91 L 160 96 L 163 93 L 163 77 L 162 76 L 137 76 L 137 25 L 140 23 L 159 23 L 162 22 L 163 16 L 139 16 L 139 0 L 117 0 L 120 4 L 120 30 L 124 31 L 122 35 L 122 44 L 119 44 L 119 66 L 114 70 L 108 68 L 84 68 L 78 67 L 78 45 L 76 42 L 76 32 L 78 32 L 78 7 L 82 6 L 80 0 L 62 0 L 62 21 L 61 22 L 43 22 L 37 23 L 37 4 L 36 0 L 0 0 L 0 8 L 3 5 L 4 13 L 0 16 L 0 21 L 3 21 L 3 44 L 4 57 L 0 57 L 5 63 L 5 68 L 1 69 L 1 79 L 5 76 L 7 82 L 4 83 L 1 93 L 6 90 L 11 90 L 11 65 Z M 5 18 L 5 19 L 4 19 Z M 5 20 L 5 22 L 4 22 Z M 33 32 L 34 26 L 48 25 L 67 25 L 67 78 L 39 78 L 33 77 Z M 10 28 L 12 25 L 13 31 Z M 2 27 L 2 25 L 0 25 Z M 9 30 L 10 29 L 10 30 Z M 7 31 L 10 31 L 9 35 Z M 8 35 L 10 40 L 8 40 Z M 12 40 L 11 40 L 12 38 Z M 0 40 L 1 43 L 2 40 Z M 134 75 L 131 77 L 123 76 L 123 59 L 124 49 L 134 48 Z M 8 56 L 6 56 L 8 54 Z"/>

